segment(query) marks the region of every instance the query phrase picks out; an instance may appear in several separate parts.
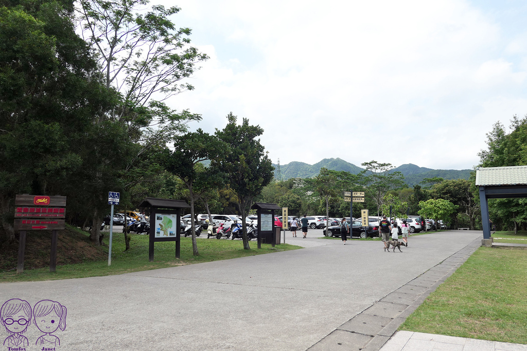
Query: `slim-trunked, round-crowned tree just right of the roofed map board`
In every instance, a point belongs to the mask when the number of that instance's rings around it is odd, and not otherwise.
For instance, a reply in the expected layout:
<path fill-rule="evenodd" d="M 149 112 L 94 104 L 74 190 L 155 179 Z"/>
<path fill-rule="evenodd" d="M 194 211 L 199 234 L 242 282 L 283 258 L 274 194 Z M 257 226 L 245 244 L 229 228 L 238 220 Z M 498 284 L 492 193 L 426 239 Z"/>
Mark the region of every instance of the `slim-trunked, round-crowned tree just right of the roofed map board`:
<path fill-rule="evenodd" d="M 229 153 L 229 146 L 214 135 L 203 133 L 201 129 L 178 137 L 174 151 L 165 158 L 165 168 L 177 175 L 189 190 L 190 221 L 192 233 L 192 252 L 199 256 L 194 229 L 194 204 L 203 193 L 217 189 L 223 183 L 223 175 L 214 166 L 204 167 L 201 162 L 213 160 L 216 164 Z M 245 218 L 245 217 L 244 217 Z"/>

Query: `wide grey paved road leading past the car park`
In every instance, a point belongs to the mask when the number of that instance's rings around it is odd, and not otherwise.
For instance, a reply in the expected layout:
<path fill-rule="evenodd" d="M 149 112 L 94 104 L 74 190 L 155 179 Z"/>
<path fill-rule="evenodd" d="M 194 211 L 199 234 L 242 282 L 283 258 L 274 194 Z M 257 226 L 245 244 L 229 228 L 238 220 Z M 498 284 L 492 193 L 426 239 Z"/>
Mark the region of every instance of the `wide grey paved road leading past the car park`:
<path fill-rule="evenodd" d="M 67 350 L 306 350 L 481 232 L 411 237 L 403 253 L 386 253 L 380 242 L 343 245 L 315 238 L 320 235 L 310 230 L 307 239 L 288 236 L 286 243 L 307 247 L 269 255 L 4 283 L 0 302 L 52 299 L 65 305 L 67 327 L 55 335 Z M 29 328 L 30 342 L 40 336 L 36 332 Z"/>

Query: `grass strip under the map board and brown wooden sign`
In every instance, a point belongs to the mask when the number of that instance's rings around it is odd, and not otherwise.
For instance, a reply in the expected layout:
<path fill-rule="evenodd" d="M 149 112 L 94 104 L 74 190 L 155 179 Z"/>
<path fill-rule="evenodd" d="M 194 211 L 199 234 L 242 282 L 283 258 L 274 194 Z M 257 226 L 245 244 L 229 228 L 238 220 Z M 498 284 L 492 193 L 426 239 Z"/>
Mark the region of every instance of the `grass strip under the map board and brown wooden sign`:
<path fill-rule="evenodd" d="M 84 233 L 85 234 L 85 233 Z M 124 235 L 114 233 L 112 240 L 112 265 L 108 266 L 108 246 L 104 246 L 106 257 L 103 260 L 92 262 L 66 264 L 58 266 L 56 272 L 50 273 L 50 268 L 24 269 L 24 273 L 16 274 L 14 270 L 0 272 L 0 282 L 33 282 L 37 280 L 55 280 L 105 276 L 142 270 L 174 267 L 215 260 L 230 259 L 260 254 L 276 253 L 283 250 L 301 248 L 290 244 L 280 244 L 271 247 L 271 244 L 262 244 L 257 249 L 256 240 L 251 240 L 250 250 L 243 249 L 242 240 L 198 238 L 199 256 L 192 255 L 192 239 L 181 237 L 181 258 L 175 258 L 175 242 L 158 242 L 154 244 L 154 262 L 148 260 L 148 235 L 132 234 L 130 249 L 124 251 Z M 105 237 L 108 245 L 109 235 Z"/>

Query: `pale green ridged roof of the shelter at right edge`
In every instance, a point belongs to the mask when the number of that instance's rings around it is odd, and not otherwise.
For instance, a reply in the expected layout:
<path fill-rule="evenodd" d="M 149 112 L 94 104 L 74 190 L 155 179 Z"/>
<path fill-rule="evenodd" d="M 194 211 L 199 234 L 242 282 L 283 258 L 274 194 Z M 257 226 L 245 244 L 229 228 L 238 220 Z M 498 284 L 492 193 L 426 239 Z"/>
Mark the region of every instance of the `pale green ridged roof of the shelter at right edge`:
<path fill-rule="evenodd" d="M 484 185 L 527 185 L 527 166 L 480 167 L 476 186 Z"/>

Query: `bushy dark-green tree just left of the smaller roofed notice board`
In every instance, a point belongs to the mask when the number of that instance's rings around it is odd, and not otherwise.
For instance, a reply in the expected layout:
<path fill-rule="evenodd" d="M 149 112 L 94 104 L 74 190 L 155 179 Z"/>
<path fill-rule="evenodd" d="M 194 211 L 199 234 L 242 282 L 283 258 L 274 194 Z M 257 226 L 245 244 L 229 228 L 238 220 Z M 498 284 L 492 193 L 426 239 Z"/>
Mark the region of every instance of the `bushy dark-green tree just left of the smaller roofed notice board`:
<path fill-rule="evenodd" d="M 226 142 L 230 153 L 224 162 L 212 161 L 211 165 L 218 167 L 227 174 L 229 187 L 238 197 L 238 210 L 245 218 L 252 205 L 252 200 L 271 182 L 274 167 L 265 152 L 265 147 L 256 139 L 264 133 L 260 126 L 249 125 L 249 119 L 243 118 L 240 125 L 237 117 L 229 113 L 227 126 L 221 131 L 216 129 L 216 136 Z M 247 225 L 242 220 L 243 248 L 250 249 L 247 239 Z"/>

